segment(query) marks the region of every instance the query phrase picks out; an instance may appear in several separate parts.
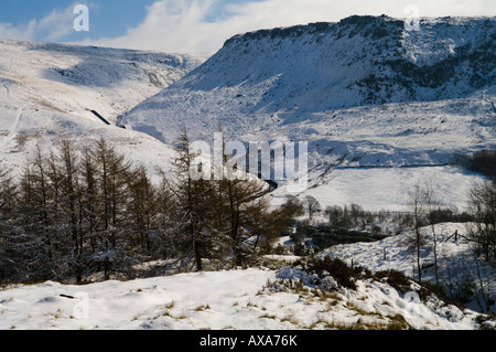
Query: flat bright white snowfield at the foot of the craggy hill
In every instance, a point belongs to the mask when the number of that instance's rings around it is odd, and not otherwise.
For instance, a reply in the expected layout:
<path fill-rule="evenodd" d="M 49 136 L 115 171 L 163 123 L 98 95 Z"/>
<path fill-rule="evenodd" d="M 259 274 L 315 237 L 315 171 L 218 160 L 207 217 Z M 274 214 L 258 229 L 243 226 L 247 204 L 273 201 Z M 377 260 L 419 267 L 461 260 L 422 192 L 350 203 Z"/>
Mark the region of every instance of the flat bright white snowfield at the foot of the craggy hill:
<path fill-rule="evenodd" d="M 332 205 L 358 204 L 367 211 L 411 212 L 411 198 L 417 185 L 430 186 L 438 196 L 438 206 L 464 211 L 468 191 L 485 179 L 456 167 L 362 168 L 337 169 L 310 185 L 301 194 L 312 195 L 322 209 Z M 283 202 L 287 190 L 278 189 L 276 204 Z"/>

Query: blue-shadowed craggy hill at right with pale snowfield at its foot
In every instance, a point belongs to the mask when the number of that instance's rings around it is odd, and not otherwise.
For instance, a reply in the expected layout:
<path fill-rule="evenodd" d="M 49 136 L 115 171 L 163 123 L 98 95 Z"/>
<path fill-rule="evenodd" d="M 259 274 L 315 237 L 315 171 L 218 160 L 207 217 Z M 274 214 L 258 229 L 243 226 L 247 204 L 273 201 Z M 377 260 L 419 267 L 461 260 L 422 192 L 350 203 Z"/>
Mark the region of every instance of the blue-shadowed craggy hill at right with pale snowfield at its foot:
<path fill-rule="evenodd" d="M 408 32 L 352 17 L 237 35 L 120 124 L 168 143 L 183 126 L 207 141 L 219 126 L 227 140 L 309 141 L 306 193 L 324 206 L 405 211 L 421 180 L 450 184 L 446 203 L 465 207 L 481 178 L 449 164 L 496 146 L 495 24 L 423 19 Z M 282 182 L 274 194 L 285 192 Z"/>

